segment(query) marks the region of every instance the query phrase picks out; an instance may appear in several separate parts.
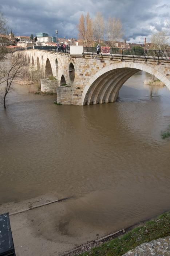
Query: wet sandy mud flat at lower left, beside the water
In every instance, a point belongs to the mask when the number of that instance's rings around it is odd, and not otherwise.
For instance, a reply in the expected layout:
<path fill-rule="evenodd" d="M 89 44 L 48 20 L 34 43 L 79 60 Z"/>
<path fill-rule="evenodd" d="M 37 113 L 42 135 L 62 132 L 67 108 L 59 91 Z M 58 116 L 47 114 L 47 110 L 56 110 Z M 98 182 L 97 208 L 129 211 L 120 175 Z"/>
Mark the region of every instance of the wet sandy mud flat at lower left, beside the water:
<path fill-rule="evenodd" d="M 0 212 L 11 214 L 57 199 L 56 195 L 47 194 L 22 202 L 5 203 L 0 206 Z M 76 220 L 70 223 L 67 219 L 66 208 L 70 200 L 76 199 L 67 199 L 10 216 L 17 256 L 56 256 L 96 239 L 95 229 L 89 230 L 88 227 L 82 227 L 82 223 Z M 103 236 L 103 233 L 99 235 Z"/>

